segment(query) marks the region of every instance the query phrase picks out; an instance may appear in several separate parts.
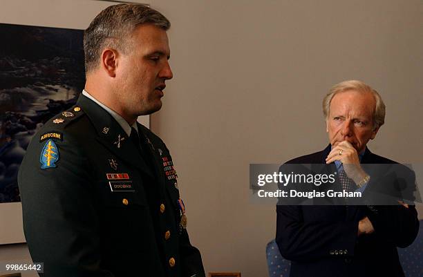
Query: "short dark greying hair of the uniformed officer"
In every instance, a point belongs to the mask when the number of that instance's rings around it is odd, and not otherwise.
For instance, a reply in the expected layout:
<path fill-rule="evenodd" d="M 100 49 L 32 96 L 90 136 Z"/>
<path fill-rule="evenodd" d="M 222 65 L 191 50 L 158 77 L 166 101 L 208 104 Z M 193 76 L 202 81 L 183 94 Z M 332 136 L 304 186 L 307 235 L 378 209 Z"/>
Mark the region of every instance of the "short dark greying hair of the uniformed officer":
<path fill-rule="evenodd" d="M 85 72 L 97 68 L 102 50 L 110 47 L 127 54 L 129 37 L 141 24 L 169 30 L 170 22 L 157 10 L 142 4 L 118 4 L 102 10 L 84 32 Z"/>

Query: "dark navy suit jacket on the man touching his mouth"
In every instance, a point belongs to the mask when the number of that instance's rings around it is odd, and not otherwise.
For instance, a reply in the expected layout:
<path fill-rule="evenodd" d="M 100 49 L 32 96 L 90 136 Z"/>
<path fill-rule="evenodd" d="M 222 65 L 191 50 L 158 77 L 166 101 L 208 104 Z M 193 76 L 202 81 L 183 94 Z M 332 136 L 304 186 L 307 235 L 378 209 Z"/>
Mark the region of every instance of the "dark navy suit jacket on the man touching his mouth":
<path fill-rule="evenodd" d="M 329 152 L 330 145 L 288 163 L 324 164 Z M 366 149 L 361 163 L 395 162 Z M 419 229 L 413 206 L 278 205 L 276 211 L 276 243 L 292 260 L 292 277 L 404 276 L 396 247 L 410 245 Z M 358 237 L 358 222 L 365 216 L 375 232 Z"/>

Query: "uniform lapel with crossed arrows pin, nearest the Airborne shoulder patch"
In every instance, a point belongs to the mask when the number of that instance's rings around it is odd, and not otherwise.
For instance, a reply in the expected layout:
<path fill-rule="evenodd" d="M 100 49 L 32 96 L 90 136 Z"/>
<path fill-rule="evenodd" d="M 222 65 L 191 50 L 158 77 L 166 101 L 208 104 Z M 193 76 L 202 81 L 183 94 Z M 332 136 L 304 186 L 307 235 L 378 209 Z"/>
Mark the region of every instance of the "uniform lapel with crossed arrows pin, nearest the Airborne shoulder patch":
<path fill-rule="evenodd" d="M 77 105 L 88 115 L 97 130 L 97 140 L 111 153 L 131 166 L 153 177 L 153 173 L 142 159 L 138 149 L 129 140 L 122 127 L 104 108 L 84 95 L 80 95 Z"/>

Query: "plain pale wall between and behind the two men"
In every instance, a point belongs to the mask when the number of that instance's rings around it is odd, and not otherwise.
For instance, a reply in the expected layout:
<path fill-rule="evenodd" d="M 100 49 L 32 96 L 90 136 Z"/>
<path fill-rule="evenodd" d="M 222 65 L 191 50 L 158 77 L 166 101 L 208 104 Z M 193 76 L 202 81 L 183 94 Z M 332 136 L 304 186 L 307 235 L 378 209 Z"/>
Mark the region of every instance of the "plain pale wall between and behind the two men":
<path fill-rule="evenodd" d="M 387 106 L 370 149 L 422 162 L 420 0 L 151 1 L 171 20 L 167 142 L 191 240 L 208 271 L 267 276 L 275 207 L 249 200 L 249 164 L 280 163 L 328 143 L 321 99 L 361 79 Z"/>

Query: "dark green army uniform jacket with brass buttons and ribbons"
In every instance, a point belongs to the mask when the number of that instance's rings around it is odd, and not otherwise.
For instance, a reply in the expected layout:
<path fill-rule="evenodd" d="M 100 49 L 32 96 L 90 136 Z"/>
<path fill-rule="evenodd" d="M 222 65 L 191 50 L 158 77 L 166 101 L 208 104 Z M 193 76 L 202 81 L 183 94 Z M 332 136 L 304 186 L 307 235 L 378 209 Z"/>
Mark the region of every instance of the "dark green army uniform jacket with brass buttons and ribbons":
<path fill-rule="evenodd" d="M 68 112 L 35 135 L 19 171 L 23 228 L 44 276 L 205 276 L 180 225 L 176 172 L 162 140 L 138 124 L 143 157 L 91 99 L 81 95 Z M 46 133 L 62 135 L 52 139 L 59 159 L 41 169 Z"/>

